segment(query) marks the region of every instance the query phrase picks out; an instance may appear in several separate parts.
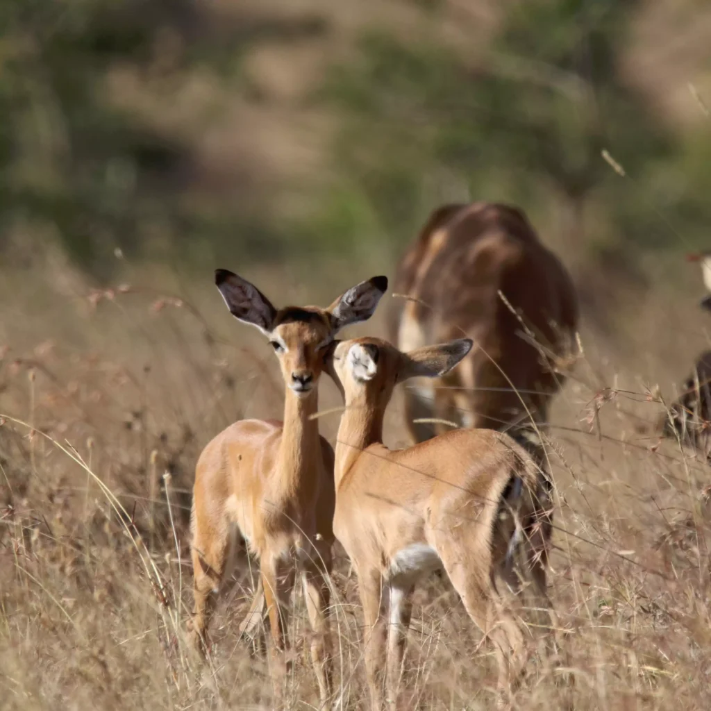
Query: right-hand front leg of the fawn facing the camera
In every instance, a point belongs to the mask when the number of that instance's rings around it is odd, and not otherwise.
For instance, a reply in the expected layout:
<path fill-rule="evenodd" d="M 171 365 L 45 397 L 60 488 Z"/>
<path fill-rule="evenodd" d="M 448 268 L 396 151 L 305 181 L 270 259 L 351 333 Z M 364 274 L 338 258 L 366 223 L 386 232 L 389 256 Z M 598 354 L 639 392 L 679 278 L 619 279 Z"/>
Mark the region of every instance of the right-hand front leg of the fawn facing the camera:
<path fill-rule="evenodd" d="M 329 553 L 328 568 L 331 567 L 330 557 Z M 326 570 L 316 565 L 309 566 L 302 574 L 306 609 L 309 611 L 309 621 L 314 631 L 314 638 L 311 641 L 311 659 L 316 671 L 316 680 L 319 682 L 321 709 L 324 711 L 331 708 L 333 693 L 331 645 L 328 634 L 328 604 L 331 591 L 328 589 L 327 575 Z"/>

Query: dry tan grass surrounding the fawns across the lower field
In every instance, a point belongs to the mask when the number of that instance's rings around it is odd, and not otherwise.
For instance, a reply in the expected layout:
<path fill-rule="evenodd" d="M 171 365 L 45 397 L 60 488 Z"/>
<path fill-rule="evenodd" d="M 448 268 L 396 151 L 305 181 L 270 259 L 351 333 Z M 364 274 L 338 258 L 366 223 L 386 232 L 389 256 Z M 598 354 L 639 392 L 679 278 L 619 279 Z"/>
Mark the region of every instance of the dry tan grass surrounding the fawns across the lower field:
<path fill-rule="evenodd" d="M 326 303 L 345 272 L 328 273 L 328 283 L 304 279 L 299 289 L 283 274 L 250 276 L 270 296 L 268 284 L 281 289 L 277 301 L 288 293 Z M 348 274 L 346 282 L 361 276 Z M 169 283 L 152 271 L 132 276 L 133 284 Z M 92 306 L 77 282 L 76 296 L 58 296 L 40 281 L 1 282 L 0 335 L 10 347 L 0 361 L 8 417 L 0 427 L 2 707 L 271 707 L 262 656 L 235 636 L 248 572 L 218 608 L 209 668 L 190 656 L 183 630 L 196 456 L 235 418 L 281 410 L 272 355 L 250 329 L 232 325 L 209 287 L 188 296 L 173 277 L 166 293 L 133 286 L 95 295 Z M 382 332 L 382 323 L 379 314 L 363 332 Z M 673 442 L 657 447 L 636 434 L 640 418 L 663 410 L 635 370 L 632 348 L 646 342 L 648 358 L 667 352 L 649 339 L 628 333 L 625 351 L 625 338 L 613 348 L 583 333 L 584 356 L 552 416 L 560 501 L 550 590 L 579 710 L 691 710 L 711 701 L 707 466 Z M 619 352 L 629 355 L 606 360 Z M 673 378 L 693 355 L 680 355 Z M 668 374 L 665 365 L 659 373 Z M 331 385 L 321 390 L 321 406 L 336 405 Z M 332 441 L 337 419 L 321 420 Z M 386 431 L 391 444 L 403 437 L 399 401 Z M 360 609 L 342 556 L 333 587 L 338 686 L 355 709 L 366 697 Z M 289 697 L 294 707 L 317 707 L 301 599 L 294 605 Z M 404 707 L 491 707 L 493 661 L 479 641 L 446 584 L 419 590 Z M 532 664 L 531 672 L 517 706 L 562 707 L 568 691 L 550 667 Z"/>

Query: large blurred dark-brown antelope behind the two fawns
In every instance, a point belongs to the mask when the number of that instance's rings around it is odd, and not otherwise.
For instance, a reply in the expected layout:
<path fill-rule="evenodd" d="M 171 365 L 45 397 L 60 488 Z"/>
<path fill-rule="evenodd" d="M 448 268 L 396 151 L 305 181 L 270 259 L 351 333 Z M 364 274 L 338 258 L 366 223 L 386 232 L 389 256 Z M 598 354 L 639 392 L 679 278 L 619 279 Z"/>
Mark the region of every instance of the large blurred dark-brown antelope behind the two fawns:
<path fill-rule="evenodd" d="M 500 429 L 527 447 L 533 439 L 535 453 L 532 425 L 545 429 L 550 400 L 565 380 L 556 365 L 570 352 L 578 300 L 565 267 L 525 215 L 492 203 L 434 210 L 400 262 L 394 291 L 412 297 L 391 312 L 398 348 L 465 334 L 476 343 L 447 377 L 406 388 L 412 439 L 443 431 L 441 423 L 414 420 L 442 419 Z"/>

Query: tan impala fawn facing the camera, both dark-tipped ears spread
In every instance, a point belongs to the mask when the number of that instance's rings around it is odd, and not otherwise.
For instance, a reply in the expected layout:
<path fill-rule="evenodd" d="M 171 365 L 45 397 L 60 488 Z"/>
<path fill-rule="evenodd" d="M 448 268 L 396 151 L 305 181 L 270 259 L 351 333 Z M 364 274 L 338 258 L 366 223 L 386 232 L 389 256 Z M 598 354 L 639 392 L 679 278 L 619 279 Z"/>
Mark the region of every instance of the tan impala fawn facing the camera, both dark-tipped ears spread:
<path fill-rule="evenodd" d="M 215 284 L 232 315 L 257 326 L 279 358 L 286 385 L 284 422 L 245 419 L 231 424 L 198 459 L 191 516 L 193 642 L 205 646 L 214 594 L 229 574 L 239 535 L 260 561 L 260 587 L 250 616 L 267 606 L 269 661 L 277 677 L 286 670 L 283 604 L 296 570 L 301 573 L 323 708 L 331 695 L 324 573 L 331 570 L 333 544 L 333 449 L 319 437 L 311 415 L 318 407 L 316 386 L 327 346 L 341 328 L 373 315 L 387 279 L 373 277 L 358 284 L 328 309 L 276 309 L 259 289 L 225 269 L 215 272 Z"/>

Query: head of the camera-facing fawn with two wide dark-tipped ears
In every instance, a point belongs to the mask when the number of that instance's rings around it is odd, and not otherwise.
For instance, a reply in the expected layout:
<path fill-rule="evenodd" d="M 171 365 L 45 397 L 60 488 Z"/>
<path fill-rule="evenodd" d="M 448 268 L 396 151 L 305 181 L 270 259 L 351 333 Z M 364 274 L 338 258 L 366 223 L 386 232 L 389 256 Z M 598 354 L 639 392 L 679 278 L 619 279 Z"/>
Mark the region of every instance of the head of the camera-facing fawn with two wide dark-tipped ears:
<path fill-rule="evenodd" d="M 284 306 L 276 309 L 257 287 L 227 269 L 215 271 L 215 284 L 236 319 L 251 324 L 269 338 L 279 358 L 284 383 L 299 397 L 315 390 L 324 355 L 344 326 L 373 316 L 387 289 L 387 277 L 373 277 L 333 301 L 328 309 L 318 306 Z"/>

